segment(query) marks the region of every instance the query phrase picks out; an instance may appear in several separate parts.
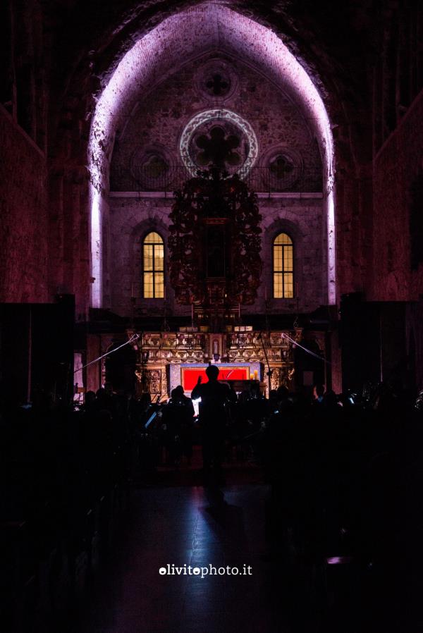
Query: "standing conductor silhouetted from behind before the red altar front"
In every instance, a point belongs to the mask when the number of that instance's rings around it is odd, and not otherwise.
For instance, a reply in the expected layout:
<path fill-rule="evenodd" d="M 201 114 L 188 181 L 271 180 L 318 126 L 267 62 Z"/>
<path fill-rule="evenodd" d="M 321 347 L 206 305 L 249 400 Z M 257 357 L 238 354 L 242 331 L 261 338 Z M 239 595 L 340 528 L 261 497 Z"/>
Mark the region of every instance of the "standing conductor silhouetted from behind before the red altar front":
<path fill-rule="evenodd" d="M 202 384 L 201 376 L 192 390 L 191 398 L 201 398 L 200 424 L 202 427 L 202 453 L 204 477 L 211 474 L 219 483 L 222 480 L 222 461 L 225 446 L 226 406 L 228 402 L 236 402 L 236 393 L 217 380 L 219 367 L 209 365 L 206 369 L 209 381 Z"/>

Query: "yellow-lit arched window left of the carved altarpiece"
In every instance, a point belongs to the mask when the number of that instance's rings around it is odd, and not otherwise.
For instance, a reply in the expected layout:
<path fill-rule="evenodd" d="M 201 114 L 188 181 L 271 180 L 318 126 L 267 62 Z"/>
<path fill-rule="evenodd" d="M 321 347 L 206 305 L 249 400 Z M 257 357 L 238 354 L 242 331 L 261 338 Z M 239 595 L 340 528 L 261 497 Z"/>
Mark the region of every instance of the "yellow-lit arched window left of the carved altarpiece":
<path fill-rule="evenodd" d="M 159 233 L 148 233 L 142 242 L 143 296 L 164 298 L 164 243 Z"/>

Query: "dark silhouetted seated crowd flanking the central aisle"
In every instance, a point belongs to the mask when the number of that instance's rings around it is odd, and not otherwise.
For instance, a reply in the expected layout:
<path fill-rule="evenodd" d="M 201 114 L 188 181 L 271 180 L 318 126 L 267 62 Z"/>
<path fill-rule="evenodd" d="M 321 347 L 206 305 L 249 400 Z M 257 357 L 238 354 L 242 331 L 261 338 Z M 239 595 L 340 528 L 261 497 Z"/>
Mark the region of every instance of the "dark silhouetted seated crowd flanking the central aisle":
<path fill-rule="evenodd" d="M 418 601 L 421 399 L 386 385 L 361 399 L 321 386 L 313 398 L 280 387 L 266 399 L 254 382 L 237 396 L 218 374 L 209 367 L 192 391 L 198 418 L 181 386 L 165 404 L 109 389 L 79 407 L 43 393 L 29 408 L 4 402 L 5 630 L 37 630 L 37 619 L 59 630 L 111 547 L 134 475 L 189 468 L 200 443 L 205 486 L 223 483 L 228 460 L 262 467 L 270 561 L 354 565 L 360 599 L 379 604 L 381 630 L 396 630 L 405 601 Z"/>

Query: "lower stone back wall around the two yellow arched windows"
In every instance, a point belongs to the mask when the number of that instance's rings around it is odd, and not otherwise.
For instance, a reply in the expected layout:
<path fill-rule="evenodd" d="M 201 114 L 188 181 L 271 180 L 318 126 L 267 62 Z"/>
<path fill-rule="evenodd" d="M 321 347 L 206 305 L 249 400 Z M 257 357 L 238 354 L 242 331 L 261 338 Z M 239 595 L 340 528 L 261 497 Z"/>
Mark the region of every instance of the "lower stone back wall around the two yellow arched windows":
<path fill-rule="evenodd" d="M 163 314 L 163 300 L 142 299 L 142 239 L 149 231 L 168 235 L 171 197 L 150 195 L 119 196 L 110 199 L 110 295 L 105 297 L 113 312 L 131 314 L 131 295 L 136 297 L 136 314 Z M 326 224 L 319 195 L 259 199 L 262 221 L 262 284 L 255 305 L 247 313 L 264 312 L 265 294 L 271 297 L 271 242 L 286 231 L 295 245 L 295 299 L 271 300 L 272 313 L 311 312 L 326 303 Z M 166 300 L 174 314 L 190 314 L 190 307 L 173 303 L 173 291 L 166 283 Z"/>

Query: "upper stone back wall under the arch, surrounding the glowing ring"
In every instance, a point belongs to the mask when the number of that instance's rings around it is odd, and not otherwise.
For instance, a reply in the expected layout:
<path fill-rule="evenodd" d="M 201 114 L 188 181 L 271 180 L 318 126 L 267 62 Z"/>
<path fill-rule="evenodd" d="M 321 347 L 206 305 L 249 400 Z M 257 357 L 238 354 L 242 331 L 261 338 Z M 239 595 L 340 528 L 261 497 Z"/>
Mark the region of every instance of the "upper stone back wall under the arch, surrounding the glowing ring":
<path fill-rule="evenodd" d="M 298 168 L 321 169 L 317 142 L 298 106 L 257 70 L 214 53 L 186 64 L 147 96 L 140 95 L 116 137 L 111 189 L 143 190 L 145 182 L 134 183 L 134 178 L 137 168 L 152 166 L 152 156 L 181 166 L 179 141 L 185 125 L 196 113 L 219 108 L 252 125 L 259 147 L 256 166 L 268 166 L 278 151 L 285 151 Z"/>

